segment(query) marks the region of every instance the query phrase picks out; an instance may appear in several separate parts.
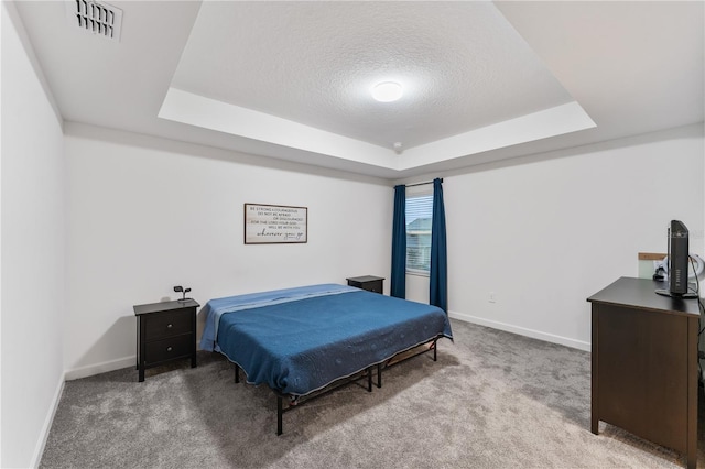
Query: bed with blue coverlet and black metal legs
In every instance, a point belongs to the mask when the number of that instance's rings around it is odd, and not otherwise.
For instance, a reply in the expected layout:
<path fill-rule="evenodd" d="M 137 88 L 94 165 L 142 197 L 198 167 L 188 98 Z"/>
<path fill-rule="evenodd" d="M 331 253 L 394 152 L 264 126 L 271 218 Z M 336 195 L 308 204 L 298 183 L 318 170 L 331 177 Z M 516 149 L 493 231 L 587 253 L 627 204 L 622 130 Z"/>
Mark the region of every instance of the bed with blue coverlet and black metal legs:
<path fill-rule="evenodd" d="M 322 284 L 209 301 L 203 350 L 223 353 L 251 384 L 267 384 L 290 406 L 346 379 L 371 375 L 377 367 L 442 337 L 453 339 L 447 315 L 435 306 Z M 434 357 L 435 358 L 435 357 Z"/>

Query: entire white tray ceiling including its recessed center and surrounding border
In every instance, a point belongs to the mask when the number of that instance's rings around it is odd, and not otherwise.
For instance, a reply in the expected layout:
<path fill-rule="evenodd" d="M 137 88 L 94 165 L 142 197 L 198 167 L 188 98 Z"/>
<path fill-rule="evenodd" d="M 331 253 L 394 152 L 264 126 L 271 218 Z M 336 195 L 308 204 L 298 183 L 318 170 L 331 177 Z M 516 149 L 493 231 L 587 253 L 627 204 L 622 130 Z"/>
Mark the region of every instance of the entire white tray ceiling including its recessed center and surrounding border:
<path fill-rule="evenodd" d="M 110 3 L 3 2 L 65 121 L 392 181 L 703 122 L 699 1 Z"/>

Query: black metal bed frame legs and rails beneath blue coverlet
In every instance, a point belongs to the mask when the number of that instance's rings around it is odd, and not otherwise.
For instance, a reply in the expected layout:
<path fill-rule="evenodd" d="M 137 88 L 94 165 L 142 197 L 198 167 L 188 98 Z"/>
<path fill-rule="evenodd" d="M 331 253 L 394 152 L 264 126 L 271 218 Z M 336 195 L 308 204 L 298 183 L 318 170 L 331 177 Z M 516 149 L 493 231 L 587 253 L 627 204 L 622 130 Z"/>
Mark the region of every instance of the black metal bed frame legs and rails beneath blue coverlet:
<path fill-rule="evenodd" d="M 362 371 L 358 371 L 357 373 L 350 375 L 350 377 L 345 377 L 345 378 L 340 378 L 337 381 L 332 382 L 330 384 L 328 384 L 326 388 L 324 388 L 323 391 L 319 392 L 313 392 L 312 394 L 307 394 L 307 395 L 292 395 L 292 394 L 282 394 L 279 391 L 272 390 L 272 392 L 274 393 L 274 395 L 276 396 L 276 435 L 281 435 L 283 433 L 283 424 L 282 424 L 282 417 L 284 415 L 285 412 L 289 411 L 293 411 L 294 408 L 301 407 L 302 405 L 304 405 L 307 402 L 314 401 L 318 397 L 322 397 L 335 390 L 337 390 L 338 388 L 343 388 L 346 386 L 348 384 L 352 384 L 352 383 L 357 383 L 358 381 L 367 378 L 367 392 L 372 392 L 372 373 L 373 373 L 373 368 L 377 367 L 377 388 L 382 388 L 382 368 L 387 369 L 387 368 L 391 368 L 395 364 L 399 364 L 401 362 L 403 362 L 404 360 L 408 360 L 412 357 L 416 357 L 420 355 L 424 355 L 426 352 L 430 352 L 433 350 L 433 361 L 437 361 L 437 348 L 436 348 L 436 342 L 438 341 L 438 339 L 441 339 L 442 337 L 444 337 L 442 334 L 438 334 L 436 337 L 420 343 L 417 346 L 414 346 L 410 349 L 406 350 L 402 350 L 397 352 L 393 357 L 380 362 L 380 363 L 372 363 L 369 367 L 367 367 L 365 370 Z M 429 346 L 426 348 L 426 346 Z M 422 350 L 415 351 L 409 356 L 404 356 L 400 359 L 397 359 L 398 357 L 408 353 L 412 350 L 416 350 L 422 348 Z M 235 364 L 235 382 L 239 383 L 240 382 L 240 366 L 237 363 Z M 288 405 L 284 406 L 284 399 L 288 399 Z"/>

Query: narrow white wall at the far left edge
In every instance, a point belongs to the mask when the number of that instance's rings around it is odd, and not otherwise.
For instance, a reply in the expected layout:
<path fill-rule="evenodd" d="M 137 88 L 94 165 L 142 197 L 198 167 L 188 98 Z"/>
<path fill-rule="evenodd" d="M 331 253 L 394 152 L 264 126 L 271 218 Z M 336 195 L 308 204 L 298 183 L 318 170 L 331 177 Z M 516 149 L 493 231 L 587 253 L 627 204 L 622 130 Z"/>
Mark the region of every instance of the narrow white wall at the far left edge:
<path fill-rule="evenodd" d="M 36 465 L 63 384 L 63 134 L 2 2 L 2 441 L 0 466 Z M 13 8 L 13 7 L 12 7 Z"/>

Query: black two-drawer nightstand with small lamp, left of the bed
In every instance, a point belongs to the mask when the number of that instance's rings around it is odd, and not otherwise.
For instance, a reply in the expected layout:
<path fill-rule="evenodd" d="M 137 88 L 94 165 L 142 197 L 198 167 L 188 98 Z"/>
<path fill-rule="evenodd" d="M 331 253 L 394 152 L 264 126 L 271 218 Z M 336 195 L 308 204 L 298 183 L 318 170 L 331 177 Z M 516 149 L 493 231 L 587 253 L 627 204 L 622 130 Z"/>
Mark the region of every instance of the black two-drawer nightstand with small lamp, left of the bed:
<path fill-rule="evenodd" d="M 191 357 L 196 367 L 196 308 L 193 299 L 133 306 L 137 316 L 137 369 L 140 382 L 144 370 L 167 361 Z"/>

